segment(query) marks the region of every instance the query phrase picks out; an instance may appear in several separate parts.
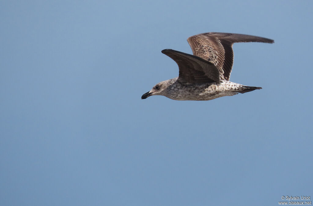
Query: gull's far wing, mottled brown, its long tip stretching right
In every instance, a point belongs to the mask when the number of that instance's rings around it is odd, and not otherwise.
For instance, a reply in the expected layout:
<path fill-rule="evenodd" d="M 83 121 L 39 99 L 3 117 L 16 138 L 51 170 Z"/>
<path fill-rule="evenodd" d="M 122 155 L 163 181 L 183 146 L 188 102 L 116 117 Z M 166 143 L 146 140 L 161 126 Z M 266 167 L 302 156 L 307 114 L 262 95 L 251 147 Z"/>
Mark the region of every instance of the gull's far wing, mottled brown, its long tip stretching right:
<path fill-rule="evenodd" d="M 233 33 L 202 33 L 187 39 L 192 53 L 212 62 L 220 72 L 220 78 L 229 80 L 233 67 L 233 43 L 264 42 L 274 43 L 274 40 L 245 34 Z"/>

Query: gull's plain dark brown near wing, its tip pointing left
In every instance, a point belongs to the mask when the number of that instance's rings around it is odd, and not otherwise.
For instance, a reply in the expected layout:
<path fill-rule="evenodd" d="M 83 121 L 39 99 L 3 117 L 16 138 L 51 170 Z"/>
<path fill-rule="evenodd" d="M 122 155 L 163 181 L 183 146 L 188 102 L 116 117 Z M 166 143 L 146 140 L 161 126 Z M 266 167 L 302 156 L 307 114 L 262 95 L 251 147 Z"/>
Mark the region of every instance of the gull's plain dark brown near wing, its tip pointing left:
<path fill-rule="evenodd" d="M 164 49 L 162 53 L 177 63 L 179 68 L 177 81 L 190 84 L 220 82 L 218 68 L 213 63 L 172 49 Z"/>

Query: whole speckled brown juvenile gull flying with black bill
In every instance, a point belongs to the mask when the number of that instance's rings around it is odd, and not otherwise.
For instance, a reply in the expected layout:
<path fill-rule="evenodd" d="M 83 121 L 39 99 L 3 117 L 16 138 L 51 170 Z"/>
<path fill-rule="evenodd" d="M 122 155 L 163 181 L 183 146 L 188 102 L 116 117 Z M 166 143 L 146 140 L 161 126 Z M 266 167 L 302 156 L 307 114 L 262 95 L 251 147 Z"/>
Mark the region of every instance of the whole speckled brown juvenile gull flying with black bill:
<path fill-rule="evenodd" d="M 263 42 L 274 40 L 233 33 L 202 33 L 187 39 L 192 53 L 172 49 L 162 50 L 178 65 L 179 76 L 157 83 L 142 95 L 163 95 L 174 100 L 211 100 L 251 92 L 261 87 L 249 87 L 229 81 L 233 67 L 233 43 Z"/>

